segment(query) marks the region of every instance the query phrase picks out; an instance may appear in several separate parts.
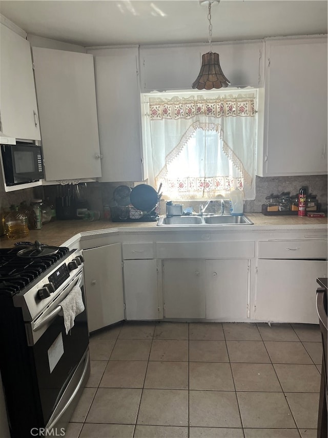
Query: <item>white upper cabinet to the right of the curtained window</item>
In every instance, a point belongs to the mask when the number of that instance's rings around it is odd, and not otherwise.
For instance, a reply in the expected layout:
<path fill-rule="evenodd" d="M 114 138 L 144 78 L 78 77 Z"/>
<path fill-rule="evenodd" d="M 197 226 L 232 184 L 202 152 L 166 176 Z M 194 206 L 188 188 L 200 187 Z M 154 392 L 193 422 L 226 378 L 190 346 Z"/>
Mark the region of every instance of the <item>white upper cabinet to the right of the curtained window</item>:
<path fill-rule="evenodd" d="M 327 172 L 327 39 L 265 43 L 263 151 L 257 175 Z"/>

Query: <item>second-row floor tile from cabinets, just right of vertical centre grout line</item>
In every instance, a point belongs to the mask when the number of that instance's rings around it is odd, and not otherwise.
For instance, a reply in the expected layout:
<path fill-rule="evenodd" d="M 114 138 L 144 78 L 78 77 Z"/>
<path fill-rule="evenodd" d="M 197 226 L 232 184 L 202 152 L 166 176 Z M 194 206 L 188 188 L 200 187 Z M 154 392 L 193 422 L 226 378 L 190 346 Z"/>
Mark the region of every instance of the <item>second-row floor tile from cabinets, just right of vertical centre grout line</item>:
<path fill-rule="evenodd" d="M 190 340 L 189 360 L 193 362 L 229 362 L 224 340 Z"/>

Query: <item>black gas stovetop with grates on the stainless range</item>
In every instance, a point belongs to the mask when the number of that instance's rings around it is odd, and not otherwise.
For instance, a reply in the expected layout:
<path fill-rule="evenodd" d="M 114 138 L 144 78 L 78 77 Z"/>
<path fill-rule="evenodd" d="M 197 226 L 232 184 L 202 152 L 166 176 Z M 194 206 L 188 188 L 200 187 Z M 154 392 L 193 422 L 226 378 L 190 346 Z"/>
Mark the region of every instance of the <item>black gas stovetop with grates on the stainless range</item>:
<path fill-rule="evenodd" d="M 54 263 L 65 257 L 69 249 L 59 246 L 55 254 L 43 255 L 41 252 L 37 257 L 20 257 L 17 255 L 19 251 L 22 251 L 22 246 L 0 249 L 0 294 L 12 296 L 22 291 L 43 272 L 51 269 Z"/>

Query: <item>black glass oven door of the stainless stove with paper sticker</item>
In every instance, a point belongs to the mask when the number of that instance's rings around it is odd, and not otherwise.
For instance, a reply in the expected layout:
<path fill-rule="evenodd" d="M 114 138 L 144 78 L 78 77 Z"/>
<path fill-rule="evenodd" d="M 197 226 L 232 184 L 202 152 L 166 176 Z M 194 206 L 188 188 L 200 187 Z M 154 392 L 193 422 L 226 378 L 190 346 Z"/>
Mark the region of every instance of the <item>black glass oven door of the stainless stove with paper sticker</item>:
<path fill-rule="evenodd" d="M 73 277 L 60 297 L 64 299 L 76 284 L 81 288 L 86 307 L 83 271 Z M 74 326 L 66 334 L 64 316 L 59 314 L 61 308 L 57 300 L 55 302 L 56 307 L 50 309 L 48 315 L 42 315 L 31 323 L 33 334 L 43 332 L 30 347 L 30 354 L 35 364 L 44 424 L 49 421 L 89 345 L 86 310 L 75 317 Z"/>

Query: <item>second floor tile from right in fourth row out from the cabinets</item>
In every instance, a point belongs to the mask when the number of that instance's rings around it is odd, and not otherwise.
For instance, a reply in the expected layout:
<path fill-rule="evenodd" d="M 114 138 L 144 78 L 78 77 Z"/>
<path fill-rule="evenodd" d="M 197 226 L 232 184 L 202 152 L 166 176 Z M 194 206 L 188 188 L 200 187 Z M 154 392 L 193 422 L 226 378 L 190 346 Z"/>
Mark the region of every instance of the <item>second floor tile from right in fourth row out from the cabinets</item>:
<path fill-rule="evenodd" d="M 279 392 L 237 392 L 244 428 L 296 428 L 284 394 Z"/>

